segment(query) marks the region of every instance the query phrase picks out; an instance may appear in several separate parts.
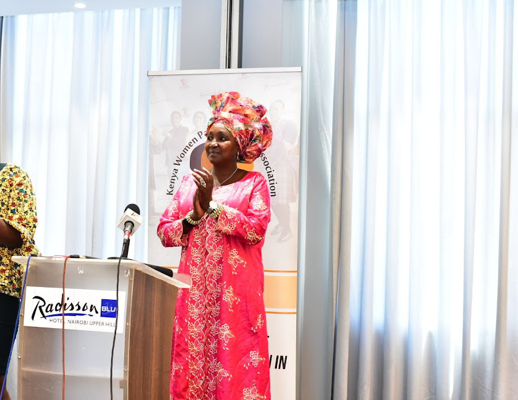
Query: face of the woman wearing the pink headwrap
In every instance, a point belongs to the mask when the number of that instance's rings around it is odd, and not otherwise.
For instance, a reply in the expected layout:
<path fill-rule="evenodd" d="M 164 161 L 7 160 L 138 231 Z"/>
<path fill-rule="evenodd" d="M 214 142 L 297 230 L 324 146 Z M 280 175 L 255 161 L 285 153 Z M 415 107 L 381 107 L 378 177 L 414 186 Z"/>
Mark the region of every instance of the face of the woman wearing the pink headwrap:
<path fill-rule="evenodd" d="M 212 164 L 236 162 L 239 146 L 233 134 L 222 125 L 214 124 L 207 132 L 205 152 Z"/>

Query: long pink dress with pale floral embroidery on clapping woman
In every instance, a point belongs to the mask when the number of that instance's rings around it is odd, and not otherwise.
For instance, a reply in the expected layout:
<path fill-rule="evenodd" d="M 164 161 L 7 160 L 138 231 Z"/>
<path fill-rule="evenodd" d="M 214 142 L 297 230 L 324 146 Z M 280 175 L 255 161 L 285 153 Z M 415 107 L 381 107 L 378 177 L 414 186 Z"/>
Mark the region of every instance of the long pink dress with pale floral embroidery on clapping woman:
<path fill-rule="evenodd" d="M 266 179 L 249 172 L 214 188 L 213 199 L 224 205 L 218 220 L 205 214 L 182 235 L 195 190 L 193 177 L 184 177 L 157 228 L 164 246 L 182 246 L 178 272 L 193 280 L 176 303 L 171 399 L 270 399 L 261 254 L 270 221 Z"/>

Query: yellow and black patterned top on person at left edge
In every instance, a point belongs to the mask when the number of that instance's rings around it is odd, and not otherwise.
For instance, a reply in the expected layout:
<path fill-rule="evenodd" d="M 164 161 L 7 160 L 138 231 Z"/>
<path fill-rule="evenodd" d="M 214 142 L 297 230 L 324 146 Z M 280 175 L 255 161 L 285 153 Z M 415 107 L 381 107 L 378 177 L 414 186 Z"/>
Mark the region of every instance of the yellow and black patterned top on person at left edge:
<path fill-rule="evenodd" d="M 23 241 L 21 248 L 0 244 L 0 292 L 20 297 L 25 266 L 12 262 L 11 257 L 39 254 L 33 240 L 38 218 L 30 178 L 13 164 L 0 170 L 0 219 L 18 230 Z"/>

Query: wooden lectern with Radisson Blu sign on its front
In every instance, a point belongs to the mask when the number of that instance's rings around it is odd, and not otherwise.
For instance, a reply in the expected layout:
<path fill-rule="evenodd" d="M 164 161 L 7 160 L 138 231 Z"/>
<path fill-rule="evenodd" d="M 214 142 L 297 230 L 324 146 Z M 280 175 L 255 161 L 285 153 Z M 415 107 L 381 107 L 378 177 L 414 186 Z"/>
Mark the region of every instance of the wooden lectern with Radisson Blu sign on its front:
<path fill-rule="evenodd" d="M 26 265 L 28 257 L 13 257 Z M 133 260 L 122 260 L 117 307 L 117 259 L 32 257 L 19 325 L 18 398 L 169 400 L 171 338 L 179 288 L 173 278 Z M 64 308 L 64 311 L 63 311 Z M 65 342 L 62 313 L 65 312 Z"/>

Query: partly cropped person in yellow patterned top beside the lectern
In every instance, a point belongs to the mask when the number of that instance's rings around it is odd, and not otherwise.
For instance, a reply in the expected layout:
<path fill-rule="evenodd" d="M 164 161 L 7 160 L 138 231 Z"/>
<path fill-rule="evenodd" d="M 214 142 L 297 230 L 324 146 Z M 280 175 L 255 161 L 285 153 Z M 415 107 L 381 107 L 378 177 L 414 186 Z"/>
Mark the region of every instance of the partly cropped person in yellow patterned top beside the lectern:
<path fill-rule="evenodd" d="M 6 369 L 15 336 L 25 266 L 12 256 L 39 254 L 34 234 L 36 199 L 28 174 L 13 164 L 0 164 L 0 381 Z M 10 400 L 7 388 L 1 400 Z"/>

